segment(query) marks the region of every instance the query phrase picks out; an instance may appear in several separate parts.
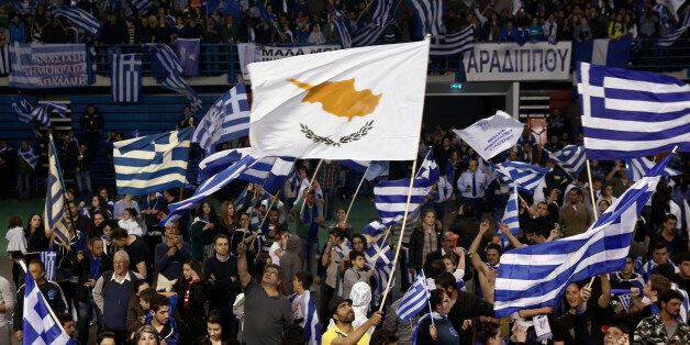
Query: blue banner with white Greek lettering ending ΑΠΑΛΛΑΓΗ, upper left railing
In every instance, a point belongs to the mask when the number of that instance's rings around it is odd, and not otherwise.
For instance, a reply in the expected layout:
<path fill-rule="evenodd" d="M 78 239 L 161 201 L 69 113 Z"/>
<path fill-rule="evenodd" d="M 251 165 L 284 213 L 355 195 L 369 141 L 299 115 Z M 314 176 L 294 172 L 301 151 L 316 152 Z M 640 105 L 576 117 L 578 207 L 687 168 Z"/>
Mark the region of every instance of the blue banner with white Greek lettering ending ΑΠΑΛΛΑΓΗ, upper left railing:
<path fill-rule="evenodd" d="M 84 44 L 20 44 L 10 46 L 10 87 L 48 89 L 92 82 Z"/>

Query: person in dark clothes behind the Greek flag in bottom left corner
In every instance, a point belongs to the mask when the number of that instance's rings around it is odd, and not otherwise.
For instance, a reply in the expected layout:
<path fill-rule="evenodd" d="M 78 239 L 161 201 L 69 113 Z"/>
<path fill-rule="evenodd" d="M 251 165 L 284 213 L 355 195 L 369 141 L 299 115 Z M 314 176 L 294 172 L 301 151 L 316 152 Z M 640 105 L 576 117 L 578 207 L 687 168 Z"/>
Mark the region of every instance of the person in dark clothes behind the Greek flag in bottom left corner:
<path fill-rule="evenodd" d="M 51 305 L 51 309 L 58 312 L 67 311 L 67 300 L 65 300 L 65 294 L 63 294 L 63 289 L 53 282 L 45 279 L 45 265 L 43 261 L 33 259 L 29 263 L 29 272 L 33 276 L 36 281 L 36 286 L 41 293 Z M 4 297 L 3 297 L 4 298 Z M 16 299 L 15 301 L 24 300 L 24 286 L 22 285 L 16 290 Z M 14 303 L 14 316 L 12 318 L 12 327 L 14 330 L 14 336 L 16 341 L 22 341 L 22 318 L 24 316 L 24 303 Z"/>

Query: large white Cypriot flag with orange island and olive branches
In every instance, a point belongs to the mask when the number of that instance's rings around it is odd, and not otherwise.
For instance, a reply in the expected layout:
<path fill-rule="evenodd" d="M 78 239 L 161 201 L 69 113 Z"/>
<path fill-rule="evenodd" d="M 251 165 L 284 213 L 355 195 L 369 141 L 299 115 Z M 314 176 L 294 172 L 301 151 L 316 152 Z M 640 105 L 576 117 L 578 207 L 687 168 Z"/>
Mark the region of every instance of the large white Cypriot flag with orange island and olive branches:
<path fill-rule="evenodd" d="M 249 64 L 255 155 L 416 159 L 429 41 Z"/>

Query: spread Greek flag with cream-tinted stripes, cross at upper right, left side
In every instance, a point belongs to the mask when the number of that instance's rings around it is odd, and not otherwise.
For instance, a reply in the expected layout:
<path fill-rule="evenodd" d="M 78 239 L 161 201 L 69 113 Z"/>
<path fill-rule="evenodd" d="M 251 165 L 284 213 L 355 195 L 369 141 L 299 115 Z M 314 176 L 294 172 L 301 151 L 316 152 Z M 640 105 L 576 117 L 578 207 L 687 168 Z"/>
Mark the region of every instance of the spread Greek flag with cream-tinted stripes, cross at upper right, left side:
<path fill-rule="evenodd" d="M 144 196 L 187 183 L 191 129 L 113 144 L 119 194 Z"/>

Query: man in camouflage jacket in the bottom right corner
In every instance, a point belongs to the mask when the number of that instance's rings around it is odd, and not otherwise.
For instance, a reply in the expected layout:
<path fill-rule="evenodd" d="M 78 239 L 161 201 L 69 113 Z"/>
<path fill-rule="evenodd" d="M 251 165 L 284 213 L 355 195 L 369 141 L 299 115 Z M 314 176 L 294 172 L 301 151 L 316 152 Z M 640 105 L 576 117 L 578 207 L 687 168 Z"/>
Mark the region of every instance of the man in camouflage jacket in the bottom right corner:
<path fill-rule="evenodd" d="M 659 296 L 658 314 L 637 325 L 632 344 L 690 344 L 690 326 L 680 320 L 682 294 L 668 289 Z"/>

